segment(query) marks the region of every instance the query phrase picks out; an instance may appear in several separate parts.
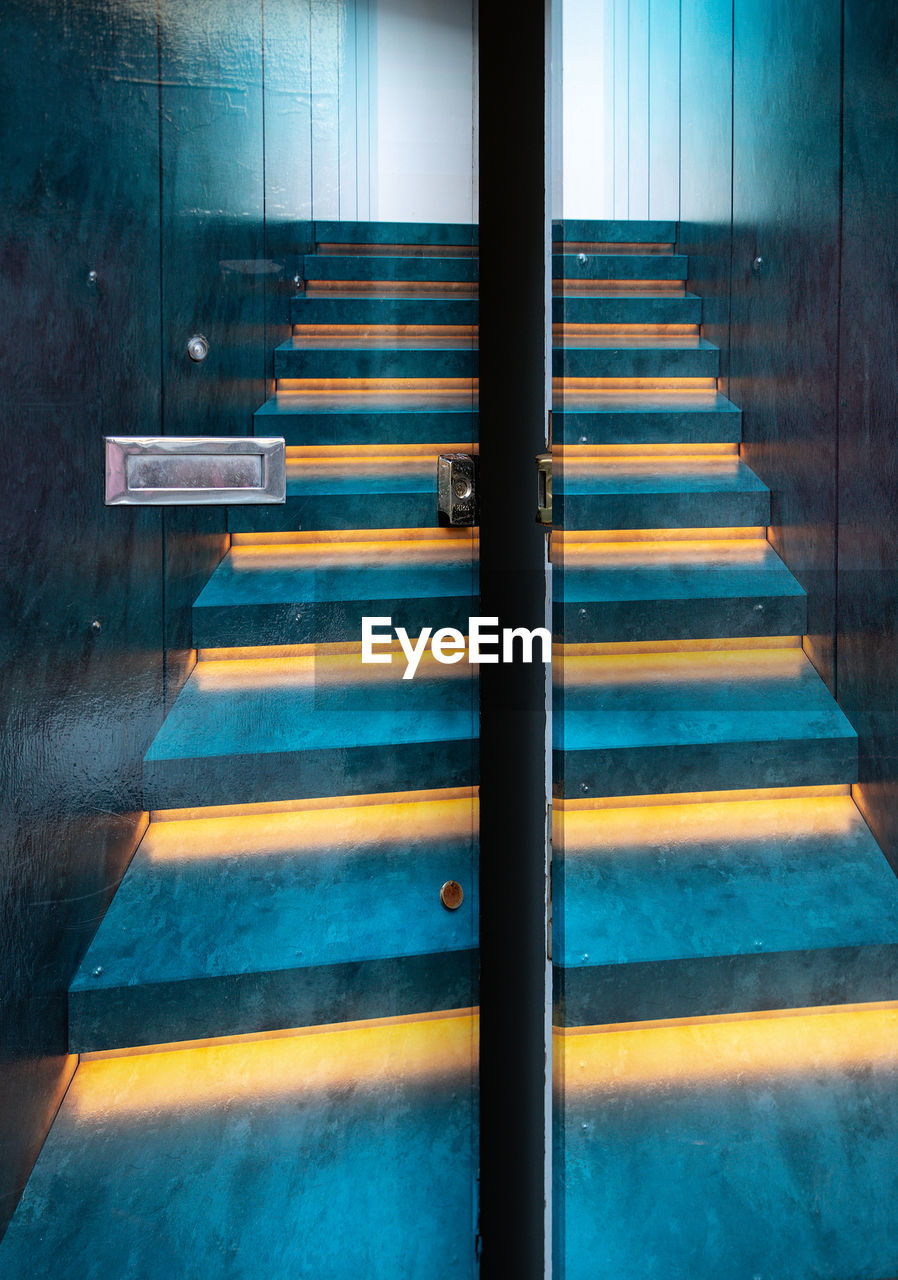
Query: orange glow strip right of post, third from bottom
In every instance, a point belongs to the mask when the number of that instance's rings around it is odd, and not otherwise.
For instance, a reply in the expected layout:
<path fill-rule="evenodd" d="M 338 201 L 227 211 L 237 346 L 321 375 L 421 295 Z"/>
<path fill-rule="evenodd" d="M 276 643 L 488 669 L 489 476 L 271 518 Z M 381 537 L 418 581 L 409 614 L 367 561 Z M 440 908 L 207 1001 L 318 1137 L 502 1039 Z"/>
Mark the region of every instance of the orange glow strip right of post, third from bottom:
<path fill-rule="evenodd" d="M 774 637 L 779 640 L 779 636 Z M 683 641 L 686 643 L 686 641 Z M 707 641 L 713 644 L 714 641 Z M 670 681 L 686 689 L 691 684 L 710 680 L 744 680 L 751 684 L 757 680 L 796 680 L 807 671 L 807 658 L 801 645 L 789 649 L 759 649 L 750 641 L 750 649 L 711 649 L 700 652 L 643 652 L 615 653 L 608 655 L 564 657 L 565 684 L 591 685 L 629 685 L 651 681 Z M 558 671 L 558 663 L 555 669 Z M 198 668 L 197 668 L 198 669 Z M 388 668 L 385 668 L 388 669 Z"/>

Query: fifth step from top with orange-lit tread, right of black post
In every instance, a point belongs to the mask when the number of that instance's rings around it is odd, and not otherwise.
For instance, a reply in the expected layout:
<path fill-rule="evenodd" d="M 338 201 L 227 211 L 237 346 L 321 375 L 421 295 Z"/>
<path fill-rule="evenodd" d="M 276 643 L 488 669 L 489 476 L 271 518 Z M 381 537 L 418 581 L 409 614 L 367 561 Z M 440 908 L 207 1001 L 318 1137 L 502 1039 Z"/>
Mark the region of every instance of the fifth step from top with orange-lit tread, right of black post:
<path fill-rule="evenodd" d="M 563 444 L 701 444 L 742 439 L 742 410 L 716 390 L 563 389 L 553 435 Z"/>

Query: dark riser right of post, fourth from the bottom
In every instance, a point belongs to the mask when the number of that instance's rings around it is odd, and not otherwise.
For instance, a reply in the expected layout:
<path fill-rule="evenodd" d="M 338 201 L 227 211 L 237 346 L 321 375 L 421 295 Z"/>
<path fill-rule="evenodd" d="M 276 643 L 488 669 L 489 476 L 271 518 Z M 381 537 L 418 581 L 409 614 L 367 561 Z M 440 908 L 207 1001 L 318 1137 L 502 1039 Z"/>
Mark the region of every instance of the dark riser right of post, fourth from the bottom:
<path fill-rule="evenodd" d="M 554 522 L 564 530 L 733 529 L 770 524 L 769 493 L 560 494 Z"/>

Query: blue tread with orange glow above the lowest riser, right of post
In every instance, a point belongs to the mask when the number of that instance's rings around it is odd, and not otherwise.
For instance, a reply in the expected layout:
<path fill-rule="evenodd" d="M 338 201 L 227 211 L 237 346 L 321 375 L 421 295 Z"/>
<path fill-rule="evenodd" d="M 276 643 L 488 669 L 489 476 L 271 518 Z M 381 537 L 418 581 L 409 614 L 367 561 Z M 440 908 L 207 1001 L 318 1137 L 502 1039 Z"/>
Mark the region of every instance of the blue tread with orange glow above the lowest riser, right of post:
<path fill-rule="evenodd" d="M 898 882 L 851 796 L 565 813 L 563 824 L 556 964 L 898 945 Z"/>

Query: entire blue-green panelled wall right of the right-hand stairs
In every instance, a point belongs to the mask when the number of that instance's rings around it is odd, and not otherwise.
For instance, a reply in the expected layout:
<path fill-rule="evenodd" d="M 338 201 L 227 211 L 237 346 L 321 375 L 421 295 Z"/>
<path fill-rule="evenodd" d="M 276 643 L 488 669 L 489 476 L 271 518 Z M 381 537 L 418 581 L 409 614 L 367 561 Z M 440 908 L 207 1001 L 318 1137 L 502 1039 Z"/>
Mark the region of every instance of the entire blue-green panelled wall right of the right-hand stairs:
<path fill-rule="evenodd" d="M 689 287 L 713 294 L 771 540 L 808 593 L 808 652 L 858 730 L 858 800 L 895 867 L 897 54 L 885 0 L 683 0 Z"/>

